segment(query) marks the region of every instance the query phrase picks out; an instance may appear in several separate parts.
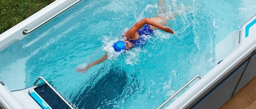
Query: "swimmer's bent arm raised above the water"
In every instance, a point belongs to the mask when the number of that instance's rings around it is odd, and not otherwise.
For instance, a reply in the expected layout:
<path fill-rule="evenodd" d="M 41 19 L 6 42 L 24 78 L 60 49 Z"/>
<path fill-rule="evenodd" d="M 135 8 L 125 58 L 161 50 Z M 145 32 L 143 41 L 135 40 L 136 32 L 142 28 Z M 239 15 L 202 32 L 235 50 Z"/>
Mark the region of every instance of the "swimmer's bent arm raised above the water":
<path fill-rule="evenodd" d="M 168 33 L 174 34 L 174 31 L 170 29 L 169 27 L 165 27 L 163 25 L 160 25 L 159 23 L 151 20 L 150 18 L 144 18 L 143 20 L 135 23 L 132 28 L 130 28 L 124 36 L 126 36 L 128 39 L 132 39 L 136 32 L 140 30 L 145 24 L 150 24 L 156 28 L 159 28 L 160 30 L 166 31 Z"/>

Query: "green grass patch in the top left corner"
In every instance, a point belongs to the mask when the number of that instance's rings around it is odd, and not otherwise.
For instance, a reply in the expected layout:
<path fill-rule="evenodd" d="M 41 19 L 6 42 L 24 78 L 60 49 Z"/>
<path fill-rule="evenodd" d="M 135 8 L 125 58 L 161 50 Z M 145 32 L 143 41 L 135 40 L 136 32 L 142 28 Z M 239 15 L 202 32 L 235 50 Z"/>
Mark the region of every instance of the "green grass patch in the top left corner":
<path fill-rule="evenodd" d="M 55 0 L 0 0 L 0 34 Z"/>

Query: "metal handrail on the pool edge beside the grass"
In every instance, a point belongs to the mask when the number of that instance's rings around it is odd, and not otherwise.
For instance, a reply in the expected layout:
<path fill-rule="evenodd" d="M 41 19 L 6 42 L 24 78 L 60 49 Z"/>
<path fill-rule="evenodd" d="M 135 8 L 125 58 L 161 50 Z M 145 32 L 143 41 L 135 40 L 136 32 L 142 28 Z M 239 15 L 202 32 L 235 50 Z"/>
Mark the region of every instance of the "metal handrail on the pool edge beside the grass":
<path fill-rule="evenodd" d="M 35 29 L 37 29 L 38 27 L 40 27 L 41 25 L 45 24 L 46 22 L 50 21 L 52 18 L 56 17 L 57 15 L 61 14 L 63 11 L 66 11 L 67 9 L 69 9 L 70 7 L 72 7 L 73 5 L 75 5 L 76 3 L 80 2 L 81 0 L 78 0 L 76 2 L 74 2 L 73 4 L 69 5 L 68 7 L 64 8 L 63 10 L 59 11 L 57 14 L 53 15 L 52 17 L 48 18 L 46 21 L 40 23 L 39 25 L 37 25 L 36 27 L 32 28 L 31 30 L 27 30 L 24 29 L 23 30 L 23 35 L 26 35 L 28 33 L 31 33 L 32 31 L 34 31 Z"/>

